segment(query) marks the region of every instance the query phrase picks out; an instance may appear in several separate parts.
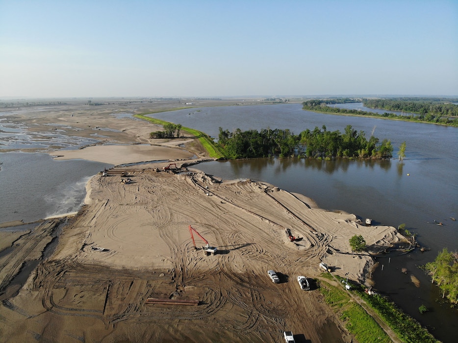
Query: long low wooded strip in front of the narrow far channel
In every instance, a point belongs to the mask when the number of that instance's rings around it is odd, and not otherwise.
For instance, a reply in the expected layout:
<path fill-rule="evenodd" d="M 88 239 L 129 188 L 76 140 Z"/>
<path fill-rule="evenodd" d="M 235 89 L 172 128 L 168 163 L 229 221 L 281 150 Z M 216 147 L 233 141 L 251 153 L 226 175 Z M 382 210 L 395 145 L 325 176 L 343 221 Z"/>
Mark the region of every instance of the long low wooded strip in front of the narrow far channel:
<path fill-rule="evenodd" d="M 375 113 L 375 112 L 367 112 L 367 111 L 360 111 L 355 109 L 346 109 L 346 108 L 338 108 L 338 107 L 330 107 L 328 104 L 339 103 L 335 102 L 334 99 L 325 99 L 325 100 L 307 100 L 302 103 L 304 110 L 309 111 L 318 111 L 318 112 L 328 112 L 328 113 L 342 113 L 342 114 L 356 114 L 359 116 L 371 116 L 371 117 L 383 117 L 388 119 L 402 119 L 405 121 L 412 121 L 412 122 L 424 122 L 424 123 L 438 123 L 450 126 L 458 126 L 458 118 L 454 116 L 446 116 L 441 113 L 428 113 L 426 115 L 419 114 L 419 115 L 402 115 L 402 114 L 395 114 L 395 113 Z M 356 102 L 356 101 L 353 101 Z M 458 106 L 452 105 L 451 106 Z"/>

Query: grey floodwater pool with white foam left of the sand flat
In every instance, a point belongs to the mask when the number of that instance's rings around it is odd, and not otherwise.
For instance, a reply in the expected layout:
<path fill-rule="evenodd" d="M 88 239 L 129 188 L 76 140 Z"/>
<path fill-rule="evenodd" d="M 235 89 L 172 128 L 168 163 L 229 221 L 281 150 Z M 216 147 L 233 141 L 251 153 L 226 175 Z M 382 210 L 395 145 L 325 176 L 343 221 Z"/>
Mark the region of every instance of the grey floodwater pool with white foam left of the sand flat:
<path fill-rule="evenodd" d="M 56 161 L 45 153 L 0 153 L 0 222 L 36 221 L 75 212 L 86 183 L 106 163 Z"/>

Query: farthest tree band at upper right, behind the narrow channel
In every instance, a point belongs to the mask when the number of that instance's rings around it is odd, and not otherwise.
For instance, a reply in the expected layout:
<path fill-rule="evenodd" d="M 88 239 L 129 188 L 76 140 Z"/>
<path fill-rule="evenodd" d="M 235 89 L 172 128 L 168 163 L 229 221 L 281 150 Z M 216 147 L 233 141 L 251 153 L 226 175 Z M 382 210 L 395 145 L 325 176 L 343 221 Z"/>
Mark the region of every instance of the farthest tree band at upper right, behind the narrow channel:
<path fill-rule="evenodd" d="M 453 101 L 453 99 L 451 100 Z M 432 114 L 458 117 L 458 105 L 453 104 L 450 100 L 363 99 L 363 104 L 366 107 L 382 108 L 389 111 L 404 111 L 422 115 Z"/>

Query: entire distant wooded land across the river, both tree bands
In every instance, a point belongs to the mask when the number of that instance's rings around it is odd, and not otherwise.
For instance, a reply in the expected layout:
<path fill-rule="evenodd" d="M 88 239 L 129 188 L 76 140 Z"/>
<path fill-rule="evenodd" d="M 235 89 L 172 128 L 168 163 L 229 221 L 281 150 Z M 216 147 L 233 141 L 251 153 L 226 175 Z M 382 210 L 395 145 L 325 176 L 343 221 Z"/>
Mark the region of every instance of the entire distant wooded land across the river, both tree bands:
<path fill-rule="evenodd" d="M 405 121 L 437 123 L 458 126 L 458 99 L 445 98 L 389 98 L 389 99 L 364 99 L 364 98 L 330 98 L 312 99 L 304 101 L 303 109 L 317 112 L 336 114 L 355 114 L 360 116 L 383 117 L 387 119 L 401 119 Z M 328 106 L 337 103 L 362 102 L 364 106 L 379 108 L 389 111 L 405 111 L 409 115 L 395 113 L 374 113 L 356 109 L 346 109 Z"/>

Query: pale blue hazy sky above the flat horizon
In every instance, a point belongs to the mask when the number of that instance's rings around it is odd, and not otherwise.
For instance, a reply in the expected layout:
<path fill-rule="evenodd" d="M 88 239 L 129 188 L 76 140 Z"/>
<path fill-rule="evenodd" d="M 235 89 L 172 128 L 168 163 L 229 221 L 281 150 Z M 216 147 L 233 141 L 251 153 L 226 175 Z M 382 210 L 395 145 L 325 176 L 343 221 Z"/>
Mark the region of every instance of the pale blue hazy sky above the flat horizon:
<path fill-rule="evenodd" d="M 458 0 L 0 0 L 1 97 L 458 95 Z"/>

